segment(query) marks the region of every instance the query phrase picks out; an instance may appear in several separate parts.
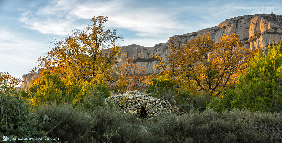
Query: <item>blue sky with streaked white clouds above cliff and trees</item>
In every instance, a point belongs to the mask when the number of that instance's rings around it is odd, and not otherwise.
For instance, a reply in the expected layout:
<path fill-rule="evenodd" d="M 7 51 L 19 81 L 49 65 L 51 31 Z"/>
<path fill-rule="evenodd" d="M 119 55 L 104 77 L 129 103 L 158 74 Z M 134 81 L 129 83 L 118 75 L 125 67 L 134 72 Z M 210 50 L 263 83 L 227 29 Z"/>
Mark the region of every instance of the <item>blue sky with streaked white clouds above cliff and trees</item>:
<path fill-rule="evenodd" d="M 280 0 L 0 0 L 0 72 L 22 79 L 37 60 L 74 28 L 108 16 L 105 29 L 124 37 L 119 45 L 153 47 L 169 37 L 219 25 L 237 16 L 282 14 Z"/>

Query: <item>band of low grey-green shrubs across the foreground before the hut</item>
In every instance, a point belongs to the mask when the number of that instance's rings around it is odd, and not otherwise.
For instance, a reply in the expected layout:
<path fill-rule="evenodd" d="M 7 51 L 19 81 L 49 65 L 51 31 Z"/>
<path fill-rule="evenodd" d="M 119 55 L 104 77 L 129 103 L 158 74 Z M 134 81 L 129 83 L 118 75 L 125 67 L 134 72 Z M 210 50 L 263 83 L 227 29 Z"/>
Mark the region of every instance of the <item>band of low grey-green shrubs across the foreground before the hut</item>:
<path fill-rule="evenodd" d="M 49 136 L 68 142 L 257 142 L 282 141 L 282 114 L 231 110 L 164 114 L 140 119 L 115 113 L 116 108 L 96 108 L 91 114 L 71 107 L 42 107 L 39 114 L 51 120 L 45 129 L 63 121 Z M 55 113 L 55 114 L 54 114 Z M 54 122 L 54 123 L 53 123 Z M 47 129 L 47 130 L 48 130 Z"/>

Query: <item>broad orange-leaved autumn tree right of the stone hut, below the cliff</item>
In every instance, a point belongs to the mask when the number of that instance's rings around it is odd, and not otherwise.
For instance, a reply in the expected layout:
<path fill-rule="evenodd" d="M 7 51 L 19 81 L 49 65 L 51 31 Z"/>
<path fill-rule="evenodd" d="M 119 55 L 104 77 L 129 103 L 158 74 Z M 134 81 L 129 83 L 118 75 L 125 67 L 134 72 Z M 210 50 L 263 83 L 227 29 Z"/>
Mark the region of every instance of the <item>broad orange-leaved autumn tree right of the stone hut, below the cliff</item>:
<path fill-rule="evenodd" d="M 209 34 L 203 34 L 185 45 L 179 44 L 177 37 L 171 37 L 168 45 L 171 51 L 168 61 L 157 68 L 178 77 L 176 84 L 180 88 L 188 85 L 198 91 L 219 94 L 219 89 L 234 86 L 230 81 L 246 69 L 244 59 L 248 58 L 249 51 L 242 47 L 236 34 L 223 35 L 219 42 L 211 39 Z"/>

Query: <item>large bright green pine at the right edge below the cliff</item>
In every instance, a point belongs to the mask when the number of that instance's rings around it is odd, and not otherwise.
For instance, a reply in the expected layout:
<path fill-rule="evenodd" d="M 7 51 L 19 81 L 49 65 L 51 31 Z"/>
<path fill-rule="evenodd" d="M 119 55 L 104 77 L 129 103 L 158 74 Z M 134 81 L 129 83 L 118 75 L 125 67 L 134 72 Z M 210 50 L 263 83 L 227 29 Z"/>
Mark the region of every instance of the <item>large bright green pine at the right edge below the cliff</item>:
<path fill-rule="evenodd" d="M 272 48 L 273 47 L 273 48 Z M 269 45 L 269 53 L 257 53 L 251 59 L 235 89 L 221 90 L 208 107 L 216 111 L 232 108 L 251 111 L 280 112 L 282 110 L 282 43 Z"/>

